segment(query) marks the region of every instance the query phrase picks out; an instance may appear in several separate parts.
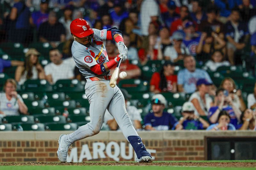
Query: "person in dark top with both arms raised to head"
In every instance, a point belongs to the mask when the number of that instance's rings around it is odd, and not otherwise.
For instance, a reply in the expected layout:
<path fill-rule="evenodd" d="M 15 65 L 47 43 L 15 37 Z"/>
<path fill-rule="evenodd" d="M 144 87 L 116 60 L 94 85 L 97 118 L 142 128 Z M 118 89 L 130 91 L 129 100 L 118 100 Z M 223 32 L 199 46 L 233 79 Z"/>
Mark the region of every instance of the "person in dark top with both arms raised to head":
<path fill-rule="evenodd" d="M 226 52 L 225 45 L 226 42 L 218 34 L 212 32 L 211 27 L 206 28 L 205 32 L 201 34 L 198 46 L 196 46 L 197 61 L 209 60 L 215 50 Z"/>

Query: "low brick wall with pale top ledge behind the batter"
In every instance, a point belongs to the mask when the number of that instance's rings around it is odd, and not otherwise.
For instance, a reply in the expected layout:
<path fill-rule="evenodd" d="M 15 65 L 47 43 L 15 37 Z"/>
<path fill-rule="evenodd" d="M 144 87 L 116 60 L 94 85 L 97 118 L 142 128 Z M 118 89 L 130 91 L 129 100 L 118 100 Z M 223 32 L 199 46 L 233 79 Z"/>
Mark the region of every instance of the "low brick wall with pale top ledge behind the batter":
<path fill-rule="evenodd" d="M 0 132 L 0 162 L 55 162 L 57 158 L 58 142 L 57 138 L 61 132 L 8 132 L 3 134 Z M 23 134 L 25 133 L 25 134 Z M 39 134 L 38 134 L 39 133 Z M 82 146 L 87 144 L 91 155 L 93 155 L 93 143 L 102 142 L 107 145 L 110 141 L 115 141 L 119 146 L 121 142 L 125 142 L 125 151 L 128 155 L 129 143 L 122 137 L 121 132 L 100 132 L 98 136 L 89 137 L 72 144 L 72 148 L 77 148 L 77 155 L 81 153 Z M 204 160 L 204 136 L 236 136 L 238 132 L 229 134 L 206 133 L 206 132 L 140 132 L 143 143 L 147 149 L 156 150 L 152 156 L 155 160 Z M 192 133 L 192 134 L 191 134 Z M 240 133 L 244 136 L 255 136 L 256 133 Z M 26 139 L 26 136 L 28 140 Z M 34 138 L 34 139 L 33 139 Z M 119 138 L 119 139 L 118 139 Z M 9 139 L 9 140 L 8 140 Z M 20 139 L 20 140 L 19 140 Z M 106 139 L 106 140 L 102 140 Z M 112 139 L 112 140 L 109 140 Z M 112 147 L 112 152 L 113 152 Z M 69 151 L 70 154 L 70 151 Z M 92 159 L 92 161 L 114 161 L 107 156 L 106 158 Z M 120 161 L 128 161 L 119 156 Z M 130 159 L 133 161 L 133 159 Z M 87 161 L 87 159 L 83 159 Z"/>

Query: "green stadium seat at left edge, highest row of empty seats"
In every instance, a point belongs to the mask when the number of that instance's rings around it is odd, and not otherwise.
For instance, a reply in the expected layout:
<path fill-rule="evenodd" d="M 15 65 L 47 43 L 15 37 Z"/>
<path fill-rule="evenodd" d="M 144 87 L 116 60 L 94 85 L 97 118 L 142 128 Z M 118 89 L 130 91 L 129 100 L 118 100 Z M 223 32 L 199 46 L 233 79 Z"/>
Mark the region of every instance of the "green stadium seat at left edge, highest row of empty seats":
<path fill-rule="evenodd" d="M 20 43 L 2 42 L 0 48 L 9 55 L 23 55 L 25 51 L 24 47 Z"/>

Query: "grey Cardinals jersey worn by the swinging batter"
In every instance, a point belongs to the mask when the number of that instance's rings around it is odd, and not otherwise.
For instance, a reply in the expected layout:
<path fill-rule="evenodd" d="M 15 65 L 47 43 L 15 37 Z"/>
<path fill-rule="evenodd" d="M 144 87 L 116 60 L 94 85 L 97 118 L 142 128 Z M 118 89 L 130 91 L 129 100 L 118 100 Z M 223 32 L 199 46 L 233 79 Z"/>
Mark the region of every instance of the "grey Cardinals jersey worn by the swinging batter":
<path fill-rule="evenodd" d="M 74 41 L 71 47 L 72 57 L 76 62 L 77 68 L 85 76 L 85 78 L 102 76 L 90 70 L 90 67 L 96 64 L 108 62 L 108 54 L 102 41 L 107 39 L 107 30 L 93 29 L 94 35 L 92 45 L 84 46 Z M 104 74 L 107 75 L 107 73 Z"/>

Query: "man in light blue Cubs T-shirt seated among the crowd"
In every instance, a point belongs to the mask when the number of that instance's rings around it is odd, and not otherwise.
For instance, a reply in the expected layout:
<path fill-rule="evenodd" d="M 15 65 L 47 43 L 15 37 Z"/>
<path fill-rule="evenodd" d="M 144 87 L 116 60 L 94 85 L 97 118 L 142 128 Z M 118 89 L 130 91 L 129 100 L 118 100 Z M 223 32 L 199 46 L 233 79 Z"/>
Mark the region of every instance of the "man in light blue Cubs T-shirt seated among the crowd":
<path fill-rule="evenodd" d="M 212 79 L 209 74 L 202 70 L 196 68 L 196 60 L 192 55 L 184 56 L 184 67 L 178 72 L 178 91 L 193 93 L 196 91 L 196 82 L 200 78 L 204 78 L 207 82 L 212 84 Z"/>

